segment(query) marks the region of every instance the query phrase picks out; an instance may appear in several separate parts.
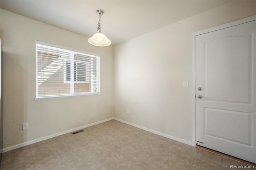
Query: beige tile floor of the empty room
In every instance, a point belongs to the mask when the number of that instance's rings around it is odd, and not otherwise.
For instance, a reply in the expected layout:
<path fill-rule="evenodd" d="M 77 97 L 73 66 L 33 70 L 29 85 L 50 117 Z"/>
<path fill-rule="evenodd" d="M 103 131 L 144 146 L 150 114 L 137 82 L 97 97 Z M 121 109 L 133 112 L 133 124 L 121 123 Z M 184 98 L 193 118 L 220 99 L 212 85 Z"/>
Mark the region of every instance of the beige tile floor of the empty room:
<path fill-rule="evenodd" d="M 246 165 L 119 121 L 5 152 L 3 170 L 227 170 Z"/>

